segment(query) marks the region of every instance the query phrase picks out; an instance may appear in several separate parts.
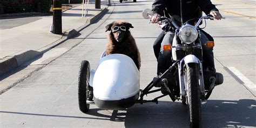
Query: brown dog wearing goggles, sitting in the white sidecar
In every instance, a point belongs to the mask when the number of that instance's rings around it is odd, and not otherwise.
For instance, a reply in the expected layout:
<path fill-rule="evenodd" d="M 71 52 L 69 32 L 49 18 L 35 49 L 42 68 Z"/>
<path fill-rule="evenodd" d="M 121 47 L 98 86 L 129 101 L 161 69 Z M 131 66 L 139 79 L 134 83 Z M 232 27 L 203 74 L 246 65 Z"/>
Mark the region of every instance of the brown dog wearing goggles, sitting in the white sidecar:
<path fill-rule="evenodd" d="M 106 25 L 106 31 L 110 31 L 107 36 L 106 55 L 113 53 L 124 54 L 132 58 L 133 62 L 140 69 L 140 53 L 134 38 L 129 31 L 132 24 L 124 21 L 116 21 Z"/>

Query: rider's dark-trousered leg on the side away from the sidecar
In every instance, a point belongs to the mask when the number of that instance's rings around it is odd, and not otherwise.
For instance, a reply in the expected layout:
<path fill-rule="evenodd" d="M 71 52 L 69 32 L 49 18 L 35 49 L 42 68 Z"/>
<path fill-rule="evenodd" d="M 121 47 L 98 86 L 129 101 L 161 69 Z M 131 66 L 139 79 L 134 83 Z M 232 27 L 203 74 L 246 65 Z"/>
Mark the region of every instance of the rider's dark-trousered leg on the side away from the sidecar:
<path fill-rule="evenodd" d="M 213 56 L 213 48 L 207 48 L 206 42 L 209 41 L 209 39 L 204 35 L 204 33 L 201 33 L 201 43 L 203 48 L 203 69 L 210 69 L 215 71 L 215 65 L 214 65 L 214 56 Z"/>

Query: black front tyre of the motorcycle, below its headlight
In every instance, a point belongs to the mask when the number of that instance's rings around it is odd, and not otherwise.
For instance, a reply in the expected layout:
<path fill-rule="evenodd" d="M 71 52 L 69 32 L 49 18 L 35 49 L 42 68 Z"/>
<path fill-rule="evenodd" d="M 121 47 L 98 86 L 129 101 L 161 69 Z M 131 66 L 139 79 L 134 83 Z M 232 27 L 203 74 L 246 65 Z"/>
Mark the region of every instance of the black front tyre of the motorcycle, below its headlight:
<path fill-rule="evenodd" d="M 199 67 L 196 63 L 186 65 L 186 102 L 190 113 L 190 127 L 200 127 L 201 100 L 199 89 Z"/>

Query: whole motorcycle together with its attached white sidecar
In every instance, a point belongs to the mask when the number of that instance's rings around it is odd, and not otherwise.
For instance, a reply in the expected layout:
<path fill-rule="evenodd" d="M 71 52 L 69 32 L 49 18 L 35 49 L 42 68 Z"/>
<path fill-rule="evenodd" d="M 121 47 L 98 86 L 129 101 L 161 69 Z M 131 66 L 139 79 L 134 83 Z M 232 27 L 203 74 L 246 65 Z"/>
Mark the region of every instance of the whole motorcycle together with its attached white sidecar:
<path fill-rule="evenodd" d="M 143 11 L 143 17 L 153 16 L 150 9 Z M 154 77 L 144 90 L 140 89 L 139 71 L 133 60 L 125 55 L 102 53 L 95 70 L 90 69 L 90 63 L 83 60 L 78 76 L 78 104 L 80 111 L 86 113 L 90 104 L 100 109 L 123 110 L 136 103 L 153 102 L 169 96 L 174 102 L 181 100 L 187 105 L 190 114 L 190 126 L 200 127 L 201 100 L 210 97 L 214 87 L 223 83 L 221 73 L 203 69 L 202 44 L 200 42 L 199 24 L 203 19 L 212 19 L 210 15 L 198 18 L 196 25 L 184 23 L 179 26 L 170 18 L 160 18 L 161 23 L 173 25 L 175 36 L 172 45 L 164 46 L 172 50 L 173 64 L 163 74 Z M 206 46 L 214 46 L 207 42 Z M 129 69 L 129 70 L 127 70 Z M 157 89 L 153 89 L 156 87 Z M 162 95 L 152 100 L 144 96 L 154 92 Z"/>

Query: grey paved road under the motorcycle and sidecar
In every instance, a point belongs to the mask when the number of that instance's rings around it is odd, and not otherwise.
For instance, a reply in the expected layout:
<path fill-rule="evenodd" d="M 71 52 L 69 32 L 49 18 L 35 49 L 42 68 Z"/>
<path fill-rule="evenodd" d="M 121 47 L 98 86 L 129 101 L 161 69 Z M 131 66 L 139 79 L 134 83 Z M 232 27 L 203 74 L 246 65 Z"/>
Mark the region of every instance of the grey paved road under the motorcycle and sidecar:
<path fill-rule="evenodd" d="M 202 102 L 202 125 L 256 127 L 255 1 L 213 3 L 226 19 L 207 21 L 205 30 L 215 39 L 215 66 L 223 73 L 224 83 Z M 171 102 L 169 97 L 161 98 L 159 104 L 136 104 L 123 111 L 100 110 L 91 105 L 85 114 L 78 108 L 79 64 L 89 60 L 91 69 L 97 67 L 107 43 L 105 26 L 113 21 L 125 20 L 134 26 L 131 33 L 142 58 L 140 88 L 144 89 L 156 75 L 152 44 L 161 30 L 142 17 L 142 11 L 151 8 L 151 4 L 152 1 L 115 1 L 99 22 L 81 31 L 79 36 L 2 79 L 1 82 L 13 83 L 14 87 L 0 96 L 0 126 L 188 127 L 186 106 L 180 101 Z M 156 96 L 159 93 L 145 99 Z"/>

